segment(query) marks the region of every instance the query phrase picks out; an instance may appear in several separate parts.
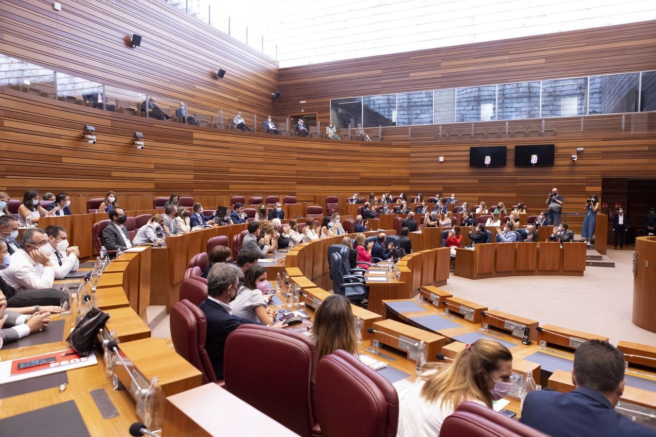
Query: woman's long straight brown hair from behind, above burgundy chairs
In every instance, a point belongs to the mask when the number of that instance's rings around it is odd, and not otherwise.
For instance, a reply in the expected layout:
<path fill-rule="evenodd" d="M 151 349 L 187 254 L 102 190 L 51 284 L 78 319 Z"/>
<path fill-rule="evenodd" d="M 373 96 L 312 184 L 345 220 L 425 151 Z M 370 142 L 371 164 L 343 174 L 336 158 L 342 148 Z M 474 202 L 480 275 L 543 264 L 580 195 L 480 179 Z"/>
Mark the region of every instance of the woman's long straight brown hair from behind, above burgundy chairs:
<path fill-rule="evenodd" d="M 317 361 L 337 349 L 358 355 L 358 337 L 351 303 L 333 294 L 325 299 L 314 314 L 312 339 L 317 345 Z"/>

